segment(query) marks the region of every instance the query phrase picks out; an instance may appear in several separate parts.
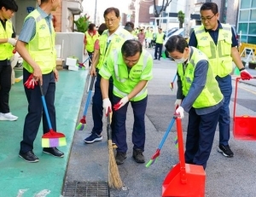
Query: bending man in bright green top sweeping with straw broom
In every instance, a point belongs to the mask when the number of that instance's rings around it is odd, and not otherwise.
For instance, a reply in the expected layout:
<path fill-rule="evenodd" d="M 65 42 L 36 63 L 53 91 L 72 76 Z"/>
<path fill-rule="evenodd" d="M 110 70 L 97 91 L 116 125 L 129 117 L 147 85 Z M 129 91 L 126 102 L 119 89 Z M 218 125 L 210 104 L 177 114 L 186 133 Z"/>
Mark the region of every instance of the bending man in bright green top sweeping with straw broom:
<path fill-rule="evenodd" d="M 117 145 L 116 163 L 124 163 L 127 152 L 125 119 L 131 102 L 134 114 L 132 130 L 133 154 L 137 163 L 144 163 L 145 112 L 148 101 L 148 81 L 153 78 L 152 56 L 143 50 L 137 40 L 126 40 L 121 49 L 113 50 L 103 64 L 100 75 L 103 108 L 108 113 L 112 109 L 108 96 L 109 78 L 113 78 L 113 128 Z"/>

